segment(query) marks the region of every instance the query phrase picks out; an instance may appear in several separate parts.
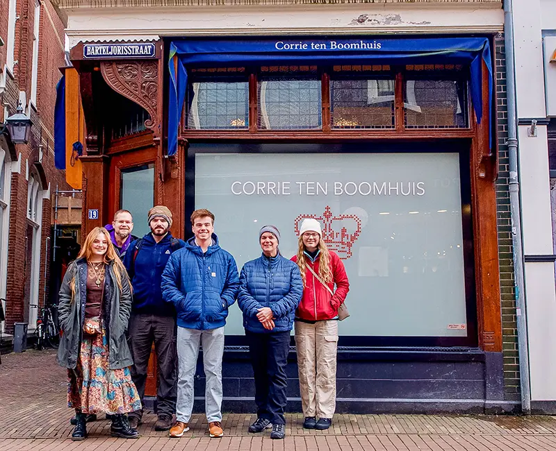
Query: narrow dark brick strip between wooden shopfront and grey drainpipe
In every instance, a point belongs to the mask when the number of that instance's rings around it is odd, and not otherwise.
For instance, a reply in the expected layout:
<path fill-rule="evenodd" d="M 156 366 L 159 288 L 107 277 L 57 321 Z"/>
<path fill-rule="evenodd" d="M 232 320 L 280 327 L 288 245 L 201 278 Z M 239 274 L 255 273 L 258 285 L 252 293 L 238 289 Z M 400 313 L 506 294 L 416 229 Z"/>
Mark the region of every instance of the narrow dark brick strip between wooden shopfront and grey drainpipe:
<path fill-rule="evenodd" d="M 504 388 L 507 400 L 520 399 L 519 358 L 517 348 L 516 300 L 514 289 L 514 257 L 512 225 L 509 212 L 509 159 L 506 140 L 507 92 L 504 37 L 495 40 L 496 103 L 498 114 L 498 180 L 496 210 L 498 216 L 498 248 L 500 257 L 500 293 L 502 296 L 502 355 L 504 356 Z"/>

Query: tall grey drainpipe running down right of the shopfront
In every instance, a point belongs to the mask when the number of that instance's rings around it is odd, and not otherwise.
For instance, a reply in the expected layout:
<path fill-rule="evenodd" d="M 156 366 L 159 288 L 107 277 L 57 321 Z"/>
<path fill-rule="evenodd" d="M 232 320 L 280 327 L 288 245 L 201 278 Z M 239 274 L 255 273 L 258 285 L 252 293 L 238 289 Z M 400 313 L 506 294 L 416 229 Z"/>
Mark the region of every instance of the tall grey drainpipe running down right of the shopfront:
<path fill-rule="evenodd" d="M 525 309 L 525 282 L 523 281 L 523 242 L 521 240 L 521 204 L 518 178 L 518 140 L 516 121 L 516 85 L 514 69 L 513 0 L 504 2 L 504 44 L 506 51 L 506 87 L 508 103 L 508 156 L 509 156 L 509 205 L 512 216 L 512 245 L 514 248 L 514 278 L 516 291 L 516 318 L 519 352 L 519 375 L 521 378 L 521 410 L 531 413 L 531 389 L 529 382 L 529 354 L 527 334 L 527 310 Z"/>

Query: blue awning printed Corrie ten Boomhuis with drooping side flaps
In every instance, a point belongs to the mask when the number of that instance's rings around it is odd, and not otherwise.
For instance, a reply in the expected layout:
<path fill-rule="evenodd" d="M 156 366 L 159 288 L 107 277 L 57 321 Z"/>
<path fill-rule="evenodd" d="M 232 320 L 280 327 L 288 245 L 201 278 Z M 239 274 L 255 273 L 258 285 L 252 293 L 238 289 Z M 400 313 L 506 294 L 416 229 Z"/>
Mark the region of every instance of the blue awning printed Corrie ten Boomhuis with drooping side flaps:
<path fill-rule="evenodd" d="M 492 62 L 484 37 L 175 40 L 170 44 L 168 155 L 177 152 L 178 126 L 187 88 L 187 68 L 198 65 L 252 64 L 461 64 L 471 71 L 471 99 L 482 119 L 481 60 L 489 71 L 489 117 L 492 117 Z M 492 143 L 492 136 L 490 138 Z"/>

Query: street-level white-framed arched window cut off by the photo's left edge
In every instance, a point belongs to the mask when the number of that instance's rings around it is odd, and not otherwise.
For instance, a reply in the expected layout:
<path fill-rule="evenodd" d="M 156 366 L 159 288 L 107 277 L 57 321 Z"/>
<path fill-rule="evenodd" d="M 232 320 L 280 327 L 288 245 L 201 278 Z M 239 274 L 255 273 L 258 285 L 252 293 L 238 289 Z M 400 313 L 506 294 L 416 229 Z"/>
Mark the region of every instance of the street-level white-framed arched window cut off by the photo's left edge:
<path fill-rule="evenodd" d="M 9 154 L 0 148 L 0 302 L 6 312 L 6 280 L 8 275 L 8 235 L 10 226 L 11 163 Z M 4 331 L 4 322 L 0 323 Z"/>

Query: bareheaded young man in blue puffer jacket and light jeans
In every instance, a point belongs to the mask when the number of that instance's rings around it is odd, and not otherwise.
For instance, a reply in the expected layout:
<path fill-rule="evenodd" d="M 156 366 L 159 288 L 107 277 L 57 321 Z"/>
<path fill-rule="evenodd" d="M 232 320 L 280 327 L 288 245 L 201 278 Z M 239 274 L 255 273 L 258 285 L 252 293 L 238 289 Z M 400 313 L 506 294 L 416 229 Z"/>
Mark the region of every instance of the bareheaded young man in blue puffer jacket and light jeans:
<path fill-rule="evenodd" d="M 170 257 L 162 275 L 163 297 L 176 307 L 178 324 L 178 397 L 170 437 L 181 437 L 189 430 L 201 345 L 208 432 L 211 437 L 221 437 L 224 325 L 239 289 L 238 267 L 234 257 L 218 246 L 211 212 L 195 210 L 191 226 L 195 237 Z"/>

